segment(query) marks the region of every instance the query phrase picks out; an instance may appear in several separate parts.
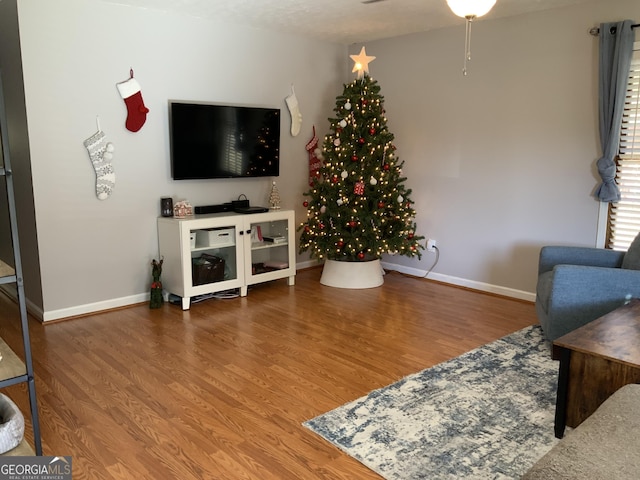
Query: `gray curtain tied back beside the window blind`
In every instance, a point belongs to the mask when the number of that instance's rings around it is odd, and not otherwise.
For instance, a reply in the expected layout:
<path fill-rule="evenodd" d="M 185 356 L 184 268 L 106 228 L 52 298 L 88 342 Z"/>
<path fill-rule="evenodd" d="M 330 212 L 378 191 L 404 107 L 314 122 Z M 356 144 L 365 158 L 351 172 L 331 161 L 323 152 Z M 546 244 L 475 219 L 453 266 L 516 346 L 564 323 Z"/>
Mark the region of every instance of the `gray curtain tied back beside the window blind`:
<path fill-rule="evenodd" d="M 634 33 L 631 20 L 600 25 L 600 144 L 602 158 L 597 161 L 602 183 L 595 195 L 602 202 L 620 200 L 615 182 L 615 156 L 618 154 L 624 97 L 633 55 Z"/>

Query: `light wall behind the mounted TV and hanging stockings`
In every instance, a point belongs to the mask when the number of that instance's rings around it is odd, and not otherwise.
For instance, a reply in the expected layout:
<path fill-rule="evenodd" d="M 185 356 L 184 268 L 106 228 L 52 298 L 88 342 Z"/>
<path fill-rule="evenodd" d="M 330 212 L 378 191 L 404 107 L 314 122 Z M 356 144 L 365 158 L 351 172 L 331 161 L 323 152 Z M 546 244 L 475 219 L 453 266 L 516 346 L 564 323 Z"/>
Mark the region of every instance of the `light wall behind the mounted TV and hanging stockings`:
<path fill-rule="evenodd" d="M 171 180 L 168 99 L 282 108 L 278 188 L 284 208 L 302 209 L 304 147 L 331 113 L 344 46 L 96 0 L 18 0 L 18 13 L 45 320 L 144 300 L 160 197 L 266 203 L 270 179 Z M 116 89 L 130 67 L 150 109 L 137 133 L 125 129 Z M 284 103 L 292 83 L 304 117 L 295 138 Z M 106 201 L 82 143 L 96 115 L 116 148 Z"/>

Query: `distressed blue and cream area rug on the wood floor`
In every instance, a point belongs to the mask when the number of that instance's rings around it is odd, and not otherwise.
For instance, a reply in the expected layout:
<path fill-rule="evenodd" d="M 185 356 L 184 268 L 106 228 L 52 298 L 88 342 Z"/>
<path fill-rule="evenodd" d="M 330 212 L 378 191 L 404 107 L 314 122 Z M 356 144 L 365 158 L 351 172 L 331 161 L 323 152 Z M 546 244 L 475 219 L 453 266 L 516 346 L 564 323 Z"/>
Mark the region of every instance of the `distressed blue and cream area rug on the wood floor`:
<path fill-rule="evenodd" d="M 304 425 L 388 480 L 515 479 L 558 441 L 557 381 L 532 326 Z"/>

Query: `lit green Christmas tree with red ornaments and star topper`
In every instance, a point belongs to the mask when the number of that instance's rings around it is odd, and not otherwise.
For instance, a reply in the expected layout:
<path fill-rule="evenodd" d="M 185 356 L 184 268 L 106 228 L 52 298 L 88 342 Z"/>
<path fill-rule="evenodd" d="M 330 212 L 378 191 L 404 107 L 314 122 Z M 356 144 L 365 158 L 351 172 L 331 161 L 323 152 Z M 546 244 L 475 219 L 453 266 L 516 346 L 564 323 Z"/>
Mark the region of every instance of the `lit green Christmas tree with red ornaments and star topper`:
<path fill-rule="evenodd" d="M 420 258 L 411 190 L 387 128 L 380 86 L 368 75 L 364 48 L 351 56 L 358 78 L 336 97 L 324 137 L 320 175 L 305 192 L 300 253 L 318 260 L 366 261 L 384 253 Z"/>

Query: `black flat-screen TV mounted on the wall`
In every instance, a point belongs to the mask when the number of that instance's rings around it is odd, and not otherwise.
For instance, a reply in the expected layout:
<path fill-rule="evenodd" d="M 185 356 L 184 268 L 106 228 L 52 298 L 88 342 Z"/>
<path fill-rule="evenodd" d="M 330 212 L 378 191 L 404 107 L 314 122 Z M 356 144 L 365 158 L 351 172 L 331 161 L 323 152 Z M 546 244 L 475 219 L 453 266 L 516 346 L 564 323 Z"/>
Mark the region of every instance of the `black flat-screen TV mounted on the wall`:
<path fill-rule="evenodd" d="M 275 177 L 280 109 L 169 102 L 174 180 Z"/>

